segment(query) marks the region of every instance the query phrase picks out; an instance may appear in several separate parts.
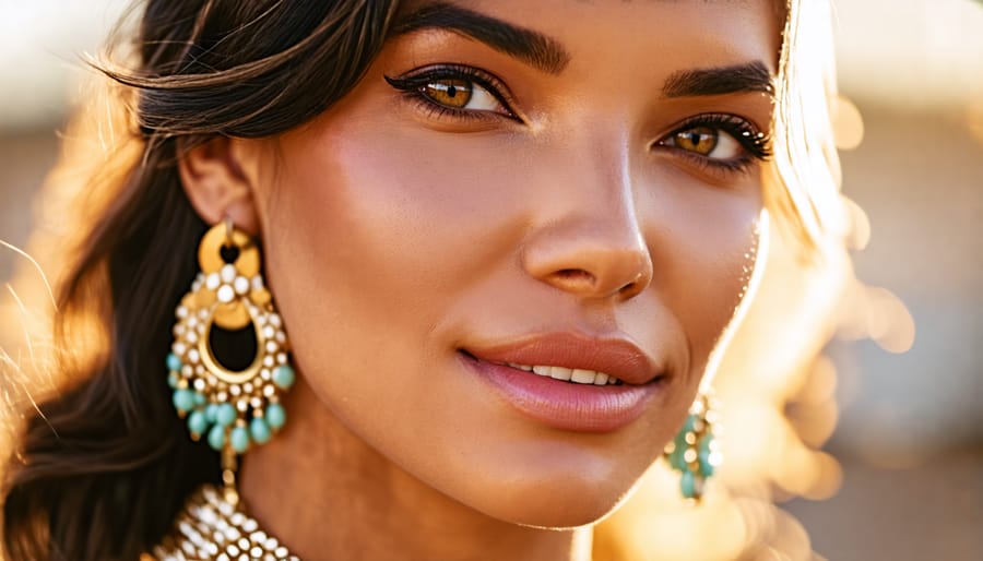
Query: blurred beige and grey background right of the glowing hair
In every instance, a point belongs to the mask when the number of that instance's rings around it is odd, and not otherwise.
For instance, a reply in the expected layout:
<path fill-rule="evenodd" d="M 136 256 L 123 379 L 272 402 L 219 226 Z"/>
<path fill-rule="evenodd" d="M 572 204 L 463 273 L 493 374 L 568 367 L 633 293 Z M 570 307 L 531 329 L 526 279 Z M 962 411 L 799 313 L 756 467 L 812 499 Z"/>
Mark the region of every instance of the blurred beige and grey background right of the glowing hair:
<path fill-rule="evenodd" d="M 983 559 L 983 4 L 837 11 L 840 88 L 865 126 L 840 154 L 872 228 L 857 276 L 897 295 L 916 335 L 883 342 L 895 353 L 830 345 L 842 486 L 786 509 L 832 560 Z"/>

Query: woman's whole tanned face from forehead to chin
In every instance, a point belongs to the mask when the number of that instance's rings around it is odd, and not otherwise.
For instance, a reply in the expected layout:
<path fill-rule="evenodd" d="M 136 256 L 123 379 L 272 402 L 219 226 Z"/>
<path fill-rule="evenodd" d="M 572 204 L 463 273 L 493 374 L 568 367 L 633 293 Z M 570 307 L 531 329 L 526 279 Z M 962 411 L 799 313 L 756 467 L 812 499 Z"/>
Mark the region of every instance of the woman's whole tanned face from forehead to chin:
<path fill-rule="evenodd" d="M 324 410 L 495 517 L 614 508 L 753 265 L 772 3 L 408 7 L 261 167 L 268 280 Z"/>

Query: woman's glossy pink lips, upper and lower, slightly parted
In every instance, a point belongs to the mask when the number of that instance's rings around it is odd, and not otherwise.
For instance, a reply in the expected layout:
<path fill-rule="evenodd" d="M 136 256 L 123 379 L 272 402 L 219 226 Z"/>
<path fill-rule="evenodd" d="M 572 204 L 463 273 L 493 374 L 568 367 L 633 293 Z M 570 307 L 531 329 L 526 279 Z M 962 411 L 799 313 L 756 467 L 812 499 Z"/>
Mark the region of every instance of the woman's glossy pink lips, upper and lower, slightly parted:
<path fill-rule="evenodd" d="M 635 345 L 577 334 L 549 334 L 519 343 L 465 348 L 464 362 L 526 416 L 553 428 L 611 432 L 631 423 L 664 386 L 661 372 Z M 620 385 L 587 385 L 509 367 L 558 366 L 605 372 Z"/>

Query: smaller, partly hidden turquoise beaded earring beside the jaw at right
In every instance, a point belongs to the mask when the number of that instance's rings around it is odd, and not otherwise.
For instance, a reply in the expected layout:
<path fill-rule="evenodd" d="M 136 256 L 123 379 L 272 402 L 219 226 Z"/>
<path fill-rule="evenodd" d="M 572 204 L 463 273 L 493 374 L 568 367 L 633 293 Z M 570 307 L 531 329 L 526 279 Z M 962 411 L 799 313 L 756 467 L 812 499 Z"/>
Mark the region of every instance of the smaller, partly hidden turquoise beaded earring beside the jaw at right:
<path fill-rule="evenodd" d="M 707 479 L 720 466 L 722 456 L 713 438 L 719 431 L 719 416 L 713 398 L 700 393 L 690 407 L 683 428 L 663 452 L 670 466 L 682 474 L 679 490 L 684 498 L 699 502 L 703 497 Z"/>

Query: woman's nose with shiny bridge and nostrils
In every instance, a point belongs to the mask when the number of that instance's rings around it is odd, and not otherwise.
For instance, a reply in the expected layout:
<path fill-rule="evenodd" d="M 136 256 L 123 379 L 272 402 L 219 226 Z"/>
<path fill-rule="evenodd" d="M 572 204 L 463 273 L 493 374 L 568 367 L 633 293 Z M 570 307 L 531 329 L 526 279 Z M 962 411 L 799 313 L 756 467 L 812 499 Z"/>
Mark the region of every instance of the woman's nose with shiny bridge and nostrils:
<path fill-rule="evenodd" d="M 607 174 L 596 167 L 594 172 L 564 174 L 579 179 L 553 191 L 558 199 L 540 213 L 522 259 L 531 276 L 555 288 L 582 298 L 625 300 L 651 284 L 652 255 L 627 165 L 616 172 L 606 167 Z"/>

